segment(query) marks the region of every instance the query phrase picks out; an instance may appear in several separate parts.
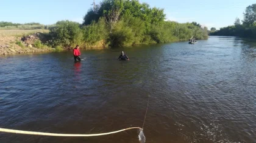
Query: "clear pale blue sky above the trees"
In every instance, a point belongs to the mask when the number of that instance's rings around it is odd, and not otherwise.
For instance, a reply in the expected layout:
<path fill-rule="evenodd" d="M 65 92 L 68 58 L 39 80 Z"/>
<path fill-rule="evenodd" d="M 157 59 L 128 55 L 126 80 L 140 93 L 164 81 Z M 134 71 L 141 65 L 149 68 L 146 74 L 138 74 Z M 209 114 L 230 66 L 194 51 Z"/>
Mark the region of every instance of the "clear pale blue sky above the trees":
<path fill-rule="evenodd" d="M 99 4 L 102 0 L 95 0 Z M 202 26 L 225 27 L 235 18 L 243 19 L 243 12 L 255 0 L 140 0 L 151 7 L 165 9 L 166 19 L 187 23 L 196 21 Z M 54 24 L 60 20 L 82 23 L 93 0 L 0 0 L 0 21 L 13 23 L 36 22 Z"/>

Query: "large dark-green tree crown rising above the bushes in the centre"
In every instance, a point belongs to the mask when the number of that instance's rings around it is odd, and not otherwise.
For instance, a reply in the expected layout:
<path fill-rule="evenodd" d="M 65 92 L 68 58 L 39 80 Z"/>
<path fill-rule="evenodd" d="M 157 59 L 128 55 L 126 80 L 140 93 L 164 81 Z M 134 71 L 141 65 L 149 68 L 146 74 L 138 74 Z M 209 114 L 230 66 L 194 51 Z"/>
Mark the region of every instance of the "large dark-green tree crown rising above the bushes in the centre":
<path fill-rule="evenodd" d="M 104 0 L 95 12 L 92 9 L 87 12 L 84 25 L 90 24 L 93 20 L 97 22 L 101 16 L 107 19 L 107 23 L 116 23 L 125 15 L 140 18 L 147 28 L 150 24 L 162 23 L 166 16 L 163 9 L 150 8 L 149 4 L 141 4 L 138 0 Z"/>

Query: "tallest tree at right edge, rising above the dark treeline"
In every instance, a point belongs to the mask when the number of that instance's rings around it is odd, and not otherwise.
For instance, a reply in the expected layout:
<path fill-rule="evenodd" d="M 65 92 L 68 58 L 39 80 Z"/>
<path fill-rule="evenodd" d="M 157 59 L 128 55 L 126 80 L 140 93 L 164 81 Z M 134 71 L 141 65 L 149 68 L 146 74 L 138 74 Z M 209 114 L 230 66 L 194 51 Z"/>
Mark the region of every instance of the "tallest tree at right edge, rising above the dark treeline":
<path fill-rule="evenodd" d="M 246 7 L 244 12 L 244 21 L 245 26 L 251 27 L 256 22 L 256 4 L 249 5 Z"/>

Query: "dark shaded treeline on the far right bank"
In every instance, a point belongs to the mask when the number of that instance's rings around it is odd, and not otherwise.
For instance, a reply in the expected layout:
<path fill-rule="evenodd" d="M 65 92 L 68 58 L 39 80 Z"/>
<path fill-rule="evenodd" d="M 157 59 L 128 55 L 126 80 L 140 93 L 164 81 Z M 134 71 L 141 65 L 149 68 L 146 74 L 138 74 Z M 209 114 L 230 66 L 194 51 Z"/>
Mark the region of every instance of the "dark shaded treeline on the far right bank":
<path fill-rule="evenodd" d="M 242 22 L 242 23 L 241 23 Z M 235 36 L 235 37 L 256 37 L 256 4 L 246 7 L 244 19 L 240 21 L 235 19 L 233 26 L 223 27 L 220 30 L 210 33 L 218 36 Z"/>

